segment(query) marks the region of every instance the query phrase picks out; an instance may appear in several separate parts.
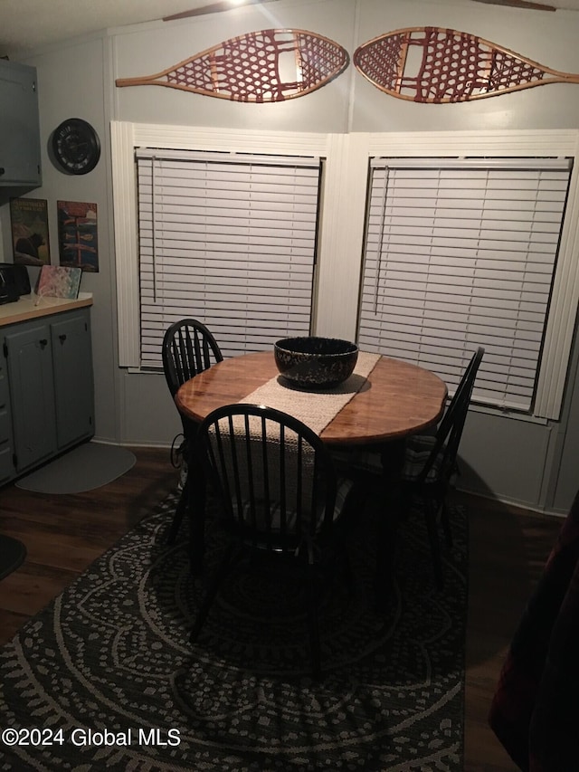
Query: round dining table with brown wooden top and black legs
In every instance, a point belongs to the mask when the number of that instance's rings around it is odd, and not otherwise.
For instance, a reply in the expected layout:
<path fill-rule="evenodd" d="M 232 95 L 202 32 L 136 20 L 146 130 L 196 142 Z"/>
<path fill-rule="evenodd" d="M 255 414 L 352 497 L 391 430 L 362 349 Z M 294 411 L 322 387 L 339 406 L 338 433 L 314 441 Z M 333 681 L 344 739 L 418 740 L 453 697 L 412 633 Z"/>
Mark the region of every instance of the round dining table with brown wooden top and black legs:
<path fill-rule="evenodd" d="M 280 376 L 272 351 L 223 359 L 186 381 L 176 394 L 176 405 L 184 415 L 199 422 L 217 407 L 248 401 L 246 397 L 276 377 Z M 317 393 L 311 392 L 311 399 L 316 397 Z M 382 455 L 384 511 L 388 513 L 377 539 L 376 586 L 382 599 L 382 587 L 393 558 L 396 513 L 400 510 L 396 482 L 403 459 L 403 441 L 438 422 L 446 397 L 444 381 L 430 370 L 379 357 L 359 390 L 319 433 L 335 450 L 375 445 Z M 204 479 L 193 459 L 187 488 L 190 565 L 195 575 L 202 570 L 204 555 Z"/>

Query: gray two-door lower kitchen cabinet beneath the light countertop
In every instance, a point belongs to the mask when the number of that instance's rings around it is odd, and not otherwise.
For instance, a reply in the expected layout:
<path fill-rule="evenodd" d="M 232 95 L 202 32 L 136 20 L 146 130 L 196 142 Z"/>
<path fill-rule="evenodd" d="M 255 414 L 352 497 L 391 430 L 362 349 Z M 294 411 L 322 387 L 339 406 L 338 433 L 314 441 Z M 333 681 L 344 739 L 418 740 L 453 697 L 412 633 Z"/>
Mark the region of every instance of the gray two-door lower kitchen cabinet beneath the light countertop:
<path fill-rule="evenodd" d="M 8 325 L 2 335 L 16 475 L 94 434 L 90 311 Z"/>

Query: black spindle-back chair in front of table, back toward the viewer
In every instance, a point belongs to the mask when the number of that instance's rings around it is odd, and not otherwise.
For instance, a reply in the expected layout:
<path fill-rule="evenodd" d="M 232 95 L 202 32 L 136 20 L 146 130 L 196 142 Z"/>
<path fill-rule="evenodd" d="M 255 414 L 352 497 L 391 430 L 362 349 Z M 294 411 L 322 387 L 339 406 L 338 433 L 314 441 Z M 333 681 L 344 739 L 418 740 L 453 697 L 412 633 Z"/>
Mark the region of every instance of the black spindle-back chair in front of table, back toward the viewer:
<path fill-rule="evenodd" d="M 311 668 L 321 675 L 318 581 L 321 567 L 349 571 L 341 536 L 352 481 L 338 480 L 324 443 L 305 424 L 264 405 L 225 405 L 207 415 L 195 441 L 214 483 L 228 547 L 191 632 L 195 641 L 224 577 L 243 557 L 267 556 L 296 571 L 308 590 Z M 280 603 L 283 598 L 280 598 Z"/>

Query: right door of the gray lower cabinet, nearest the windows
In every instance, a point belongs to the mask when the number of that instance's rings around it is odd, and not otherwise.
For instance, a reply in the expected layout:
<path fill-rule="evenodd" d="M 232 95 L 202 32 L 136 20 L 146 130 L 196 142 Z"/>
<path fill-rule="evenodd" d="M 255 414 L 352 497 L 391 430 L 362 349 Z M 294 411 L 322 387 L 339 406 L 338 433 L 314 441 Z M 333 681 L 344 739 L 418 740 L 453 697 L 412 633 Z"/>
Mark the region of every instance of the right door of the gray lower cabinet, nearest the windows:
<path fill-rule="evenodd" d="M 80 311 L 51 323 L 58 449 L 94 434 L 90 316 Z"/>

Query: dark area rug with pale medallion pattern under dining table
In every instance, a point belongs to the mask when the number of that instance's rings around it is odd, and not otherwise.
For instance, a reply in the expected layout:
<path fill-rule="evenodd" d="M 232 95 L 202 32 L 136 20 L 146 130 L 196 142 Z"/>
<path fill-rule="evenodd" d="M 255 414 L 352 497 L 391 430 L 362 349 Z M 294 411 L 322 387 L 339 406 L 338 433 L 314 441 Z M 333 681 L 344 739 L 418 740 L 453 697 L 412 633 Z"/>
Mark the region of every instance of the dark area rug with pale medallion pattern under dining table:
<path fill-rule="evenodd" d="M 443 592 L 422 519 L 403 524 L 382 614 L 378 513 L 368 513 L 350 545 L 355 586 L 337 581 L 322 599 L 326 676 L 316 682 L 299 587 L 267 567 L 233 573 L 188 644 L 204 586 L 189 577 L 186 536 L 164 543 L 175 503 L 157 507 L 0 651 L 0 769 L 459 772 L 463 510 L 452 515 Z M 214 559 L 221 538 L 208 530 Z"/>

